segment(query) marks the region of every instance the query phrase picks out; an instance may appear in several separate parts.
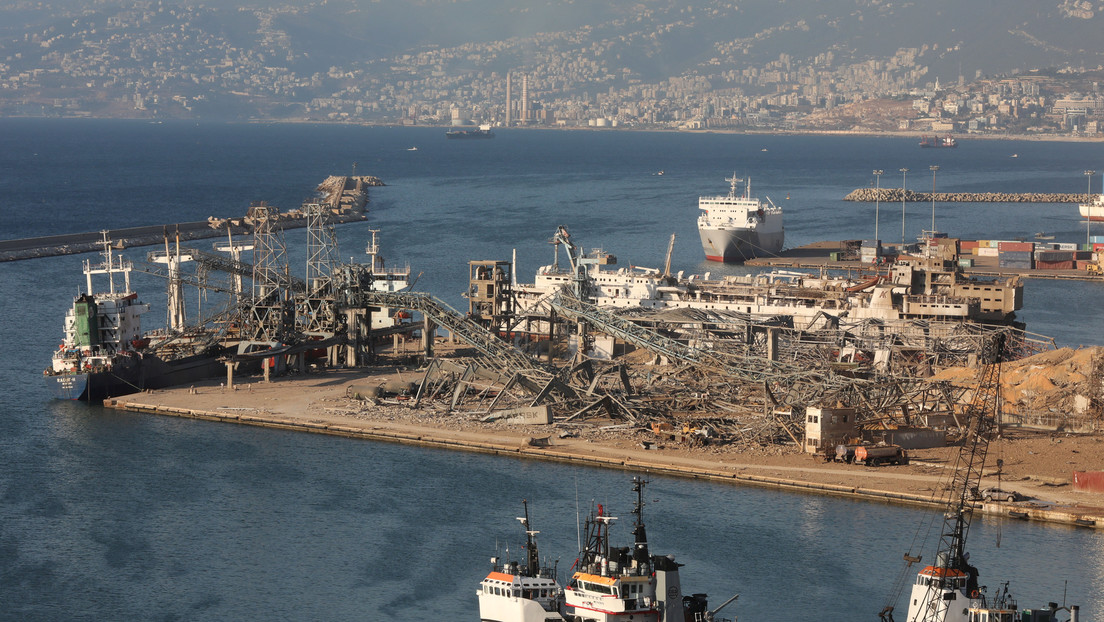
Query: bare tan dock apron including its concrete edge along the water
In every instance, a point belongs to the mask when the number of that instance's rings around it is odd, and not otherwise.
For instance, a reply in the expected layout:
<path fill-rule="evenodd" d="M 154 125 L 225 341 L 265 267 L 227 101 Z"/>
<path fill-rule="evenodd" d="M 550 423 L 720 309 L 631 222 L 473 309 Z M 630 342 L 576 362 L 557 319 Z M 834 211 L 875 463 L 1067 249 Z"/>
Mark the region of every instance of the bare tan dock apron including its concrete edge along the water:
<path fill-rule="evenodd" d="M 940 464 L 917 461 L 909 467 L 868 468 L 858 465 L 824 464 L 805 454 L 741 455 L 712 447 L 680 445 L 644 449 L 636 441 L 611 441 L 590 432 L 561 437 L 555 425 L 508 425 L 480 423 L 464 413 L 443 413 L 411 407 L 411 401 L 391 404 L 355 402 L 346 398 L 347 388 L 389 380 L 411 381 L 416 371 L 385 368 L 339 370 L 277 379 L 270 383 L 245 381 L 235 390 L 220 382 L 187 388 L 149 391 L 107 400 L 119 410 L 187 419 L 259 425 L 273 429 L 333 434 L 351 439 L 399 442 L 442 449 L 475 451 L 517 458 L 550 460 L 661 473 L 692 478 L 757 485 L 904 503 L 942 506 L 933 502 L 933 491 L 945 479 Z M 597 433 L 601 435 L 601 433 Z M 545 443 L 531 442 L 546 439 Z M 1057 489 L 1055 489 L 1057 491 Z M 986 514 L 1031 520 L 1104 528 L 1104 495 L 1052 492 L 1044 487 L 1033 496 L 1042 503 L 984 504 Z"/>

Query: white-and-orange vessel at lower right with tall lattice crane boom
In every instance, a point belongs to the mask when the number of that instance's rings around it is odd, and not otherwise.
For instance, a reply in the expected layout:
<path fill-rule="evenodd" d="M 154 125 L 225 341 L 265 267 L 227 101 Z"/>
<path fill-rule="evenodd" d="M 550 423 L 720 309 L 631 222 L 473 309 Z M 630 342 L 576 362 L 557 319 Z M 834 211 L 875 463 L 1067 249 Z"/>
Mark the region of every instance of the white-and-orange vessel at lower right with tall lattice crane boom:
<path fill-rule="evenodd" d="M 1058 613 L 1065 610 L 1071 622 L 1079 620 L 1079 607 L 1059 608 L 1051 602 L 1045 609 L 1018 610 L 1016 599 L 1004 582 L 987 593 L 988 588 L 978 583 L 978 569 L 969 563 L 966 536 L 969 534 L 981 481 L 981 467 L 988 452 L 989 440 L 996 433 L 997 404 L 1000 400 L 1000 360 L 1002 337 L 995 338 L 984 352 L 988 357 L 974 392 L 974 400 L 966 409 L 963 429 L 966 434 L 955 463 L 951 499 L 944 513 L 943 531 L 935 555 L 935 563 L 924 567 L 916 574 L 909 597 L 907 622 L 1057 622 Z M 921 556 L 905 554 L 909 566 L 921 561 Z M 893 602 L 899 594 L 891 594 L 890 603 L 879 616 L 893 622 Z"/>

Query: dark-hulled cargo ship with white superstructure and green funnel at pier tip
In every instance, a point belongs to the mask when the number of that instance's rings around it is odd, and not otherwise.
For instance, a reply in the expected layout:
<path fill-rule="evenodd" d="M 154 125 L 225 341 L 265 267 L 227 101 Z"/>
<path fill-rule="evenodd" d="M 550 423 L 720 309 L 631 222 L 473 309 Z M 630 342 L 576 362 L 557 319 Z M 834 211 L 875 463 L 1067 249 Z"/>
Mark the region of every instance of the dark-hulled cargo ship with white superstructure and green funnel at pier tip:
<path fill-rule="evenodd" d="M 190 347 L 174 342 L 173 349 L 180 356 L 172 359 L 158 355 L 150 337 L 141 330 L 141 316 L 150 307 L 130 289 L 134 267 L 115 256 L 106 235 L 103 244 L 103 264 L 84 262 L 86 291 L 66 312 L 64 337 L 43 372 L 54 397 L 98 401 L 212 378 L 224 371 L 219 357 L 227 352 L 202 338 L 191 339 Z M 107 277 L 107 291 L 94 292 L 93 275 Z"/>

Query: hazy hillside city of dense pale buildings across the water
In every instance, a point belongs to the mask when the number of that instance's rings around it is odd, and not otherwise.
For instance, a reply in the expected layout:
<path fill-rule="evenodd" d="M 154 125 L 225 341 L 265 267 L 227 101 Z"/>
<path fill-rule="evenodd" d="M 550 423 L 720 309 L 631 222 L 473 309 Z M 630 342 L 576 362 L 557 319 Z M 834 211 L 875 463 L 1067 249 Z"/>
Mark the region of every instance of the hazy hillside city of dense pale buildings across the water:
<path fill-rule="evenodd" d="M 308 68 L 275 10 L 251 11 L 250 46 L 215 34 L 202 7 L 160 3 L 26 32 L 0 48 L 0 116 L 1085 137 L 1104 120 L 1104 67 L 941 82 L 937 44 L 750 62 L 754 41 L 735 40 L 649 80 L 618 63 L 631 36 L 583 29 Z"/>

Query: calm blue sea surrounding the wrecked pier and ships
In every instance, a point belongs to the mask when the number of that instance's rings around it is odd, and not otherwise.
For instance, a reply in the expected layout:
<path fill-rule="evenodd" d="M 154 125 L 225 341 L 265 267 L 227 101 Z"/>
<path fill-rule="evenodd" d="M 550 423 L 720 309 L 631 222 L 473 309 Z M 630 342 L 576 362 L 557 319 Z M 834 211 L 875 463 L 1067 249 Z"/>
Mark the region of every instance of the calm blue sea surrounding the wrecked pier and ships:
<path fill-rule="evenodd" d="M 290 209 L 355 167 L 388 187 L 372 190 L 368 223 L 339 229 L 342 257 L 362 257 L 379 228 L 389 260 L 422 273 L 418 289 L 461 307 L 469 260 L 517 249 L 528 280 L 551 262 L 559 224 L 622 264 L 659 265 L 675 233 L 676 270 L 739 272 L 702 262 L 694 228 L 697 197 L 725 192 L 733 172 L 786 208 L 787 244 L 799 245 L 873 236 L 873 205 L 841 198 L 873 185 L 875 168 L 883 188 L 900 187 L 906 167 L 906 187 L 930 190 L 938 165 L 937 190 L 1009 192 L 1084 192 L 1082 171 L 1104 170 L 1098 145 L 915 143 L 550 130 L 448 141 L 435 128 L 9 119 L 0 238 L 238 215 L 257 200 Z M 895 243 L 900 204 L 881 208 L 881 238 Z M 963 238 L 1085 235 L 1075 205 L 936 210 L 937 228 Z M 906 205 L 910 238 L 930 223 L 930 204 Z M 302 265 L 306 234 L 287 242 Z M 0 264 L 0 619 L 476 620 L 496 546 L 518 550 L 522 498 L 561 567 L 577 506 L 624 516 L 628 539 L 626 473 L 51 401 L 39 377 L 82 259 Z M 163 285 L 136 285 L 158 324 Z M 1100 285 L 1029 281 L 1020 317 L 1059 345 L 1098 345 L 1102 304 Z M 656 549 L 686 562 L 683 582 L 714 603 L 740 592 L 742 620 L 874 620 L 928 516 L 667 478 L 649 497 Z M 1104 537 L 980 520 L 972 542 L 991 589 L 1010 579 L 1025 605 L 1064 590 L 1083 620 L 1104 616 Z"/>

